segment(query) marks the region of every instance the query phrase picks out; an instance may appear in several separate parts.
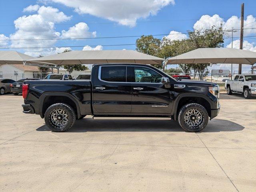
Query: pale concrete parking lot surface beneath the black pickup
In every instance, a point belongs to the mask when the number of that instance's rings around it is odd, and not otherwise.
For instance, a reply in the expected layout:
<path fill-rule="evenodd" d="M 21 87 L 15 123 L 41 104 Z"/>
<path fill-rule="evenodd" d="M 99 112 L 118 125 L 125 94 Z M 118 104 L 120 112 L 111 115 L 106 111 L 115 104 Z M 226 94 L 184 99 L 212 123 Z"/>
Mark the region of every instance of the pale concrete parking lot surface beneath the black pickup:
<path fill-rule="evenodd" d="M 221 94 L 198 133 L 168 118 L 96 118 L 52 132 L 0 96 L 0 191 L 256 191 L 256 99 Z"/>

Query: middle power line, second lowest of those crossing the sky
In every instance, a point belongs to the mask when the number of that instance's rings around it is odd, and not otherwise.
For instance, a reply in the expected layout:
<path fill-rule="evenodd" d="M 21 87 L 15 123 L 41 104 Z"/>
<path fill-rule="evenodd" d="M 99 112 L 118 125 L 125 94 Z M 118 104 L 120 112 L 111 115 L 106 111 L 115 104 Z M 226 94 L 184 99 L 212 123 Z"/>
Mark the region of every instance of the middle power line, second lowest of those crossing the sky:
<path fill-rule="evenodd" d="M 253 28 L 245 28 L 245 29 L 253 29 Z M 223 30 L 229 32 L 230 30 Z M 200 33 L 204 33 L 202 31 Z M 164 36 L 164 35 L 178 35 L 178 34 L 189 34 L 186 33 L 173 33 L 173 34 L 156 34 L 152 36 Z M 82 40 L 82 39 L 108 39 L 108 38 L 131 38 L 131 37 L 141 37 L 142 35 L 135 35 L 135 36 L 112 36 L 112 37 L 85 37 L 85 38 L 49 38 L 49 39 L 0 39 L 0 41 L 34 41 L 34 40 Z M 151 35 L 144 35 L 144 36 L 151 36 Z M 238 38 L 238 37 L 234 37 Z"/>

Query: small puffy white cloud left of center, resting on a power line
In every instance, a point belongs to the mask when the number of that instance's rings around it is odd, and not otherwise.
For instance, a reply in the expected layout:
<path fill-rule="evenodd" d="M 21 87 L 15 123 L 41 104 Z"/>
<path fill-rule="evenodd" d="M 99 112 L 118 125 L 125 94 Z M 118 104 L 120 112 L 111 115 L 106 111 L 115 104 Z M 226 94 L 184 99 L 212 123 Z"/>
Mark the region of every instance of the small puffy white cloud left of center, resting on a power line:
<path fill-rule="evenodd" d="M 96 37 L 96 31 L 90 32 L 86 23 L 80 22 L 69 28 L 68 31 L 62 30 L 62 38 L 89 38 Z"/>

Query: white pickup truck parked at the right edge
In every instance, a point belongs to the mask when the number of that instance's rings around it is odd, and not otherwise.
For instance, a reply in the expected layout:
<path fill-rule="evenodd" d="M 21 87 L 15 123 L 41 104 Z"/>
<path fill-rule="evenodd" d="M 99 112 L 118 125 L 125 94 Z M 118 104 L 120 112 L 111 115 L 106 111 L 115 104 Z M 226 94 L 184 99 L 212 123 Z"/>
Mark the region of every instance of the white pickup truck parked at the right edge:
<path fill-rule="evenodd" d="M 256 96 L 256 74 L 236 75 L 234 80 L 226 80 L 225 88 L 228 95 L 243 93 L 246 99 Z"/>

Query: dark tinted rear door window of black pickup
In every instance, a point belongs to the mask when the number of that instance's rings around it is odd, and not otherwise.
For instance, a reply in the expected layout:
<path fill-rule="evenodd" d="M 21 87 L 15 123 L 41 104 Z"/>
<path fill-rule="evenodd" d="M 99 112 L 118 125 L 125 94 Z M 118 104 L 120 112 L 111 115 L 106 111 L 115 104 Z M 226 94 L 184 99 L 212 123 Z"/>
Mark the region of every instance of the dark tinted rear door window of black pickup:
<path fill-rule="evenodd" d="M 101 66 L 100 80 L 126 82 L 126 66 Z"/>

